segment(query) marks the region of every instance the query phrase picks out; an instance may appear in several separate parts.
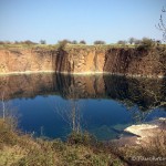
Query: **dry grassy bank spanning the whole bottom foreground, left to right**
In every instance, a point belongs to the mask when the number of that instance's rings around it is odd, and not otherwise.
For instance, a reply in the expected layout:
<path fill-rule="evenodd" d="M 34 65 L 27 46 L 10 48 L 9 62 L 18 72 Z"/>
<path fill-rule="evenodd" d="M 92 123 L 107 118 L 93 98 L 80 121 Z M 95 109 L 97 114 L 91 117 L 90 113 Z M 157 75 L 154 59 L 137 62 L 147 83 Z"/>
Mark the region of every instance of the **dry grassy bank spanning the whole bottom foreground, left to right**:
<path fill-rule="evenodd" d="M 165 129 L 148 142 L 116 146 L 89 133 L 72 133 L 66 142 L 33 138 L 20 133 L 12 118 L 0 118 L 0 166 L 164 166 L 165 162 Z"/>

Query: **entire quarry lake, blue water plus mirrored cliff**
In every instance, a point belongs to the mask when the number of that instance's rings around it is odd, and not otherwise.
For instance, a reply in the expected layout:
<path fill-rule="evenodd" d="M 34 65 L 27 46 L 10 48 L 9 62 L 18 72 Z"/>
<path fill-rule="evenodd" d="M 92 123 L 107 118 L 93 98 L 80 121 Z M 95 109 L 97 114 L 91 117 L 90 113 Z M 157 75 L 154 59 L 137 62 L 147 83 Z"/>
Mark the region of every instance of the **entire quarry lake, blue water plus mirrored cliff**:
<path fill-rule="evenodd" d="M 65 139 L 87 131 L 98 139 L 125 135 L 132 124 L 166 117 L 164 79 L 115 75 L 21 74 L 0 76 L 0 107 L 34 136 Z"/>

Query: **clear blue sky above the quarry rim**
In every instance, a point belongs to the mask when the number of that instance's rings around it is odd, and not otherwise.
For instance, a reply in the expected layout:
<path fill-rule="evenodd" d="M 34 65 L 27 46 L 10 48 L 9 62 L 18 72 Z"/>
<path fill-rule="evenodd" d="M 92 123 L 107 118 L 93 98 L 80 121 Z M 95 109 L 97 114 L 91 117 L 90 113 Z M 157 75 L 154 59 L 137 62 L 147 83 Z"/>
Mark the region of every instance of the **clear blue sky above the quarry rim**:
<path fill-rule="evenodd" d="M 165 0 L 0 0 L 0 41 L 162 40 L 155 28 Z"/>

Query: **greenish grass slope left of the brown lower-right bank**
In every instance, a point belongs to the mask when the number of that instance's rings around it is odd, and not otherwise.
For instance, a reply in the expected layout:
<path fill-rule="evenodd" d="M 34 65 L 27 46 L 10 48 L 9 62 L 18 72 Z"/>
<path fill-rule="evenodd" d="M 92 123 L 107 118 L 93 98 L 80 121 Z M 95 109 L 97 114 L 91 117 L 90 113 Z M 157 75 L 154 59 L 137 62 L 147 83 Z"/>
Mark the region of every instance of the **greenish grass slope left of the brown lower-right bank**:
<path fill-rule="evenodd" d="M 124 165 L 112 153 L 96 151 L 91 141 L 89 134 L 71 135 L 66 143 L 34 139 L 18 132 L 10 118 L 0 118 L 0 166 Z"/>

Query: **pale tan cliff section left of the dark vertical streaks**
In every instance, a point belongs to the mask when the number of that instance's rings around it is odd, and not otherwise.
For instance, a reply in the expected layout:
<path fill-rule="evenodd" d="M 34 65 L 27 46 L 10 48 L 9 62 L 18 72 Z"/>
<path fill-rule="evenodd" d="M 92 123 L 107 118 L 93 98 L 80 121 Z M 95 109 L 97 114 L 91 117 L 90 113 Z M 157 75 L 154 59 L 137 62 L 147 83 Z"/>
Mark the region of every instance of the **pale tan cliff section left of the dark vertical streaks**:
<path fill-rule="evenodd" d="M 0 50 L 0 73 L 52 71 L 55 56 L 44 50 Z"/>

